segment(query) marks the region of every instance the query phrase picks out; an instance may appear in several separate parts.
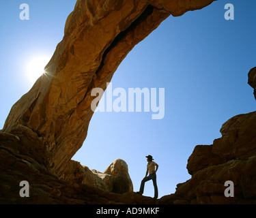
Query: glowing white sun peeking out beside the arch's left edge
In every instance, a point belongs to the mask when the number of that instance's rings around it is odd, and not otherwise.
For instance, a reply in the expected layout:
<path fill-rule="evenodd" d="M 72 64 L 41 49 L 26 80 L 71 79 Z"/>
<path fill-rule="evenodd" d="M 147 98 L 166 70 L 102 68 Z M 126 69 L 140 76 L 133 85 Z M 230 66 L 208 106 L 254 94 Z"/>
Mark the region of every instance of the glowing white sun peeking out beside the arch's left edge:
<path fill-rule="evenodd" d="M 44 74 L 44 67 L 50 60 L 46 55 L 38 55 L 27 61 L 26 76 L 29 82 L 35 82 L 42 74 Z"/>

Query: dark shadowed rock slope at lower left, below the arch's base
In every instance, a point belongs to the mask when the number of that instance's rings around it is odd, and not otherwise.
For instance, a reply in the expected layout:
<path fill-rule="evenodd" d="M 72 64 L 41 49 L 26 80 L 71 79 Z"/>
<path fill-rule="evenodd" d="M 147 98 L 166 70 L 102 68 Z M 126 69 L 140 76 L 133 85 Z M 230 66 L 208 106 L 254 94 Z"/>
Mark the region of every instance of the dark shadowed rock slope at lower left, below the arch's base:
<path fill-rule="evenodd" d="M 133 192 L 111 193 L 78 180 L 61 180 L 38 161 L 10 148 L 10 144 L 21 146 L 20 141 L 16 136 L 0 133 L 0 204 L 156 203 Z M 20 197 L 20 181 L 29 182 L 29 198 Z"/>

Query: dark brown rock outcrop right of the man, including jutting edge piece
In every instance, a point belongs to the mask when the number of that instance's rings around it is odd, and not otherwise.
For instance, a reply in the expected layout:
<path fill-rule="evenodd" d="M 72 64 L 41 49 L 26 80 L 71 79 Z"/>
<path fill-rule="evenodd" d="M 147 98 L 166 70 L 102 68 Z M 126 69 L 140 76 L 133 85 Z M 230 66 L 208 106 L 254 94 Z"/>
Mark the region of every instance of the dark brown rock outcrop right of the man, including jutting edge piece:
<path fill-rule="evenodd" d="M 256 87 L 256 67 L 248 84 Z M 162 197 L 171 204 L 256 204 L 256 111 L 233 116 L 221 127 L 222 137 L 212 145 L 197 145 L 188 158 L 192 175 L 178 184 L 175 194 Z M 226 198 L 226 181 L 234 184 L 234 197 Z"/>

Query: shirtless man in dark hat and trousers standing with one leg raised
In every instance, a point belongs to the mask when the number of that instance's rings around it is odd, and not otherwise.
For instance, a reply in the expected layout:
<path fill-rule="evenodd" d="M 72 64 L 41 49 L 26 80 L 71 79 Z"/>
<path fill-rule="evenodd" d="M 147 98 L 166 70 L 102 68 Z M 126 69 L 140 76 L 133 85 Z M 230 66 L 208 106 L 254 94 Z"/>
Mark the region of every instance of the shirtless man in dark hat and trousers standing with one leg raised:
<path fill-rule="evenodd" d="M 150 181 L 152 179 L 153 185 L 154 185 L 154 190 L 155 190 L 154 199 L 157 199 L 158 198 L 158 188 L 156 185 L 156 171 L 158 170 L 158 164 L 153 161 L 152 155 L 148 155 L 146 157 L 147 157 L 147 162 L 148 162 L 147 163 L 147 172 L 146 172 L 145 177 L 141 181 L 141 187 L 140 187 L 139 191 L 137 191 L 137 193 L 142 195 L 144 192 L 145 182 Z M 156 166 L 156 169 L 155 169 L 155 166 Z M 148 172 L 150 172 L 149 176 L 147 176 Z"/>

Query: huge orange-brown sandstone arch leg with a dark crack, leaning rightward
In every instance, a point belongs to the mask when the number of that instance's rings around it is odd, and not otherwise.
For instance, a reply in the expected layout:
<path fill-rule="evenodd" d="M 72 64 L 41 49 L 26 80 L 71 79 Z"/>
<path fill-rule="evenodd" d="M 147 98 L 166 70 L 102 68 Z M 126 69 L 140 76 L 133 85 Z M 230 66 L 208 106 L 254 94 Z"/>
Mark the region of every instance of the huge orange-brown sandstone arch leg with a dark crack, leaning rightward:
<path fill-rule="evenodd" d="M 31 129 L 41 140 L 33 150 L 43 150 L 46 167 L 61 176 L 87 136 L 91 89 L 105 90 L 128 52 L 162 20 L 212 1 L 77 1 L 47 73 L 14 104 L 3 131 L 14 133 L 18 125 Z"/>

